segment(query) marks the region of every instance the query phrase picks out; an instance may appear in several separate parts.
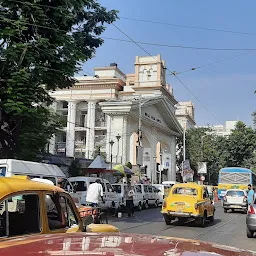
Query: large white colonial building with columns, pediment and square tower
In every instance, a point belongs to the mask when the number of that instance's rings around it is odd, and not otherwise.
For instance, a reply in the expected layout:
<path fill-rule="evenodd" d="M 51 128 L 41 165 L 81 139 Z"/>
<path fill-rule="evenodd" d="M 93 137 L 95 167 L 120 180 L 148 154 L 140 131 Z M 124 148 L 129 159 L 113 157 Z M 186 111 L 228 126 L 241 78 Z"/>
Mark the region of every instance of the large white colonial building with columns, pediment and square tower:
<path fill-rule="evenodd" d="M 157 162 L 164 169 L 162 180 L 175 180 L 176 137 L 183 129 L 161 56 L 137 56 L 134 74 L 125 75 L 115 63 L 94 72 L 77 77 L 72 88 L 51 92 L 56 99 L 53 108 L 66 118 L 67 126 L 52 138 L 50 152 L 92 159 L 99 146 L 108 161 L 112 155 L 114 164 L 139 164 L 154 182 L 159 181 Z"/>

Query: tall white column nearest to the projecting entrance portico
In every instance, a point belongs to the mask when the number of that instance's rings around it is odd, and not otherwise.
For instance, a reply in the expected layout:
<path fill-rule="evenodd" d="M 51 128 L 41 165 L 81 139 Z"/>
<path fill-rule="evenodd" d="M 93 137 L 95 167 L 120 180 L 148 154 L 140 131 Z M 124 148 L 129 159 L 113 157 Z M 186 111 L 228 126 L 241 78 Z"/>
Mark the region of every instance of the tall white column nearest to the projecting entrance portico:
<path fill-rule="evenodd" d="M 94 145 L 95 145 L 95 108 L 96 108 L 96 101 L 88 101 L 86 146 L 85 146 L 85 156 L 88 159 L 92 158 Z"/>

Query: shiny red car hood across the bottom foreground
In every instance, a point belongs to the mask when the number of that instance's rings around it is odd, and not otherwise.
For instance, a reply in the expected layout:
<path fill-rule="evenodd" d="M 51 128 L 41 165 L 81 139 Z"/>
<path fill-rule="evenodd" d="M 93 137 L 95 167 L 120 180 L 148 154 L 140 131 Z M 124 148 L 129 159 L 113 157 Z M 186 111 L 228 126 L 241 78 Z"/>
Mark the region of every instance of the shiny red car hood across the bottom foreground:
<path fill-rule="evenodd" d="M 232 247 L 194 240 L 120 233 L 72 233 L 0 239 L 3 256 L 255 256 Z"/>

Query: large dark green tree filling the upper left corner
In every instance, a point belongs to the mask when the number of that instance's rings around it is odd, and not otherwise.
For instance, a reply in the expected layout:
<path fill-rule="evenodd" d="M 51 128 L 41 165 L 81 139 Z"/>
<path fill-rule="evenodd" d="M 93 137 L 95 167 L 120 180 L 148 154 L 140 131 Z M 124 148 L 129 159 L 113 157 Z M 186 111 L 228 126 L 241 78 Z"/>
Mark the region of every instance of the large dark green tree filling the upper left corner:
<path fill-rule="evenodd" d="M 49 91 L 74 84 L 74 74 L 103 43 L 104 24 L 114 22 L 117 12 L 96 0 L 0 3 L 0 148 L 2 157 L 14 158 L 24 147 L 43 150 L 58 130 L 59 122 L 51 123 Z M 49 135 L 40 135 L 35 145 L 42 129 Z"/>

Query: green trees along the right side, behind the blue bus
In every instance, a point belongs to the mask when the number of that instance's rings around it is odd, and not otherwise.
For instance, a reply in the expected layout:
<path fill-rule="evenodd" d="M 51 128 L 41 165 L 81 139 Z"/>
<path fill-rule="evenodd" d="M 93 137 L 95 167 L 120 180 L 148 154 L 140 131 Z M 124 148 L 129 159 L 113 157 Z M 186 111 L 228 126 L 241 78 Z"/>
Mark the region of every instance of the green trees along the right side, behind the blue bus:
<path fill-rule="evenodd" d="M 182 143 L 178 147 L 178 161 L 182 159 Z M 191 168 L 198 162 L 207 162 L 206 180 L 217 183 L 218 172 L 223 167 L 256 167 L 256 131 L 239 121 L 228 137 L 217 136 L 211 129 L 193 128 L 186 132 L 186 158 Z"/>

